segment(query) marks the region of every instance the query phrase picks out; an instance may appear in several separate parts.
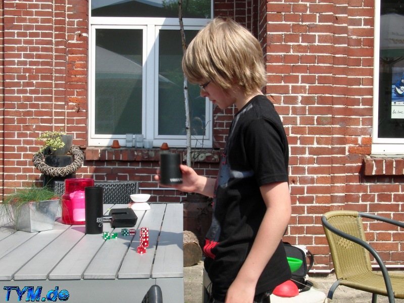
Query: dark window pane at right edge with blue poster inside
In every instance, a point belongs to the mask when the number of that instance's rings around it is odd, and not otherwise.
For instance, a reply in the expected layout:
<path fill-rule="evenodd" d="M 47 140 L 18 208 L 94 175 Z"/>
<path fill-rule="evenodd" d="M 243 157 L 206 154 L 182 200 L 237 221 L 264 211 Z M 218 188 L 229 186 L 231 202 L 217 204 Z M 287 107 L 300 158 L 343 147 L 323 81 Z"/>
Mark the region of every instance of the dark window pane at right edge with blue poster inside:
<path fill-rule="evenodd" d="M 379 138 L 404 137 L 404 1 L 382 0 Z"/>

